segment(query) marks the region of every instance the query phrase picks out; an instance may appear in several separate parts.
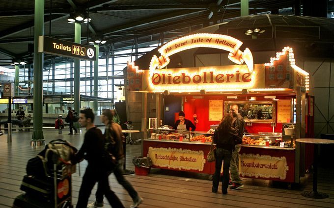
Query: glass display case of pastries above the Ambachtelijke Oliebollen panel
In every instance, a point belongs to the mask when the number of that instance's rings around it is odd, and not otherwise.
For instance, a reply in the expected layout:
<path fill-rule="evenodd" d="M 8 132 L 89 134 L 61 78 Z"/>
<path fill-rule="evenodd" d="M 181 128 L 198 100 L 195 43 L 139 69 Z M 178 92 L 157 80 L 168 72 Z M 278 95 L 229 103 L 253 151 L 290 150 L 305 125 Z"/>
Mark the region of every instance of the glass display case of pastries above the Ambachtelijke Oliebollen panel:
<path fill-rule="evenodd" d="M 184 131 L 174 129 L 147 129 L 147 139 L 182 142 L 211 143 L 212 132 Z"/>

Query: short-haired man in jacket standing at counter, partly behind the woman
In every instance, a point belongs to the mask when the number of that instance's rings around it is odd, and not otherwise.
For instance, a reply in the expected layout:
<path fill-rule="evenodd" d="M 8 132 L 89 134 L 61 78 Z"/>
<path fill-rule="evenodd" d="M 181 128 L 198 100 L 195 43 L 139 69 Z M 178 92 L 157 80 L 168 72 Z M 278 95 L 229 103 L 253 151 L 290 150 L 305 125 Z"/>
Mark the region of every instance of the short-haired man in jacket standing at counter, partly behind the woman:
<path fill-rule="evenodd" d="M 244 118 L 238 114 L 239 107 L 236 104 L 230 105 L 230 114 L 233 116 L 232 127 L 235 128 L 238 132 L 240 138 L 243 137 L 244 133 Z M 242 140 L 241 140 L 242 142 Z M 242 181 L 239 177 L 239 152 L 241 148 L 241 143 L 238 142 L 234 146 L 234 150 L 232 150 L 232 158 L 230 164 L 230 172 L 231 172 L 231 190 L 237 190 L 239 188 L 244 187 Z"/>

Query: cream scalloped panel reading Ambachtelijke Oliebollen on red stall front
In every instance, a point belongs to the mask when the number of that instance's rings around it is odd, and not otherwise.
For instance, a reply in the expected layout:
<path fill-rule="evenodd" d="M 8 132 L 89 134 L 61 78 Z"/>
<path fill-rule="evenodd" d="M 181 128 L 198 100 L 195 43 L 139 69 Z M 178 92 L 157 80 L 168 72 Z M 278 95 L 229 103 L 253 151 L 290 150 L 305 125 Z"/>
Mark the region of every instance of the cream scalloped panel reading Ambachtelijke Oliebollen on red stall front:
<path fill-rule="evenodd" d="M 205 164 L 204 152 L 201 150 L 149 147 L 147 156 L 151 158 L 153 165 L 179 170 L 202 171 Z"/>

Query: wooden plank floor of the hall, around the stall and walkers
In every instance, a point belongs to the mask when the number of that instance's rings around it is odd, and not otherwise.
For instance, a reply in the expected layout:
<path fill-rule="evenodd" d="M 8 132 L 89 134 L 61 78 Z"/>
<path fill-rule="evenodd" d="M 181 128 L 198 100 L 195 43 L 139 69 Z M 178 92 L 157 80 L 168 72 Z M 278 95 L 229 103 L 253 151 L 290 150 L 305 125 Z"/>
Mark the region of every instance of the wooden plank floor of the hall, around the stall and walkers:
<path fill-rule="evenodd" d="M 66 139 L 80 148 L 83 133 L 67 135 L 68 130 L 58 135 L 56 130 L 45 130 L 46 142 L 53 139 Z M 0 208 L 12 206 L 14 198 L 23 193 L 21 181 L 26 174 L 28 159 L 34 157 L 44 147 L 29 145 L 32 132 L 13 132 L 12 143 L 7 143 L 7 135 L 0 137 Z M 127 145 L 126 168 L 134 170 L 132 158 L 141 155 L 141 146 Z M 80 164 L 81 176 L 86 162 Z M 288 189 L 286 184 L 264 180 L 243 179 L 244 188 L 229 190 L 227 195 L 211 192 L 208 175 L 172 172 L 152 169 L 148 176 L 127 175 L 126 178 L 144 199 L 140 208 L 334 208 L 334 169 L 320 169 L 318 190 L 329 194 L 327 199 L 309 199 L 301 196 L 303 191 L 312 189 L 312 174 L 301 178 L 300 185 Z M 82 178 L 77 172 L 72 176 L 73 204 L 77 203 Z M 110 176 L 112 190 L 125 207 L 132 200 L 127 192 Z M 95 199 L 94 187 L 89 201 Z M 105 208 L 110 208 L 108 202 Z"/>

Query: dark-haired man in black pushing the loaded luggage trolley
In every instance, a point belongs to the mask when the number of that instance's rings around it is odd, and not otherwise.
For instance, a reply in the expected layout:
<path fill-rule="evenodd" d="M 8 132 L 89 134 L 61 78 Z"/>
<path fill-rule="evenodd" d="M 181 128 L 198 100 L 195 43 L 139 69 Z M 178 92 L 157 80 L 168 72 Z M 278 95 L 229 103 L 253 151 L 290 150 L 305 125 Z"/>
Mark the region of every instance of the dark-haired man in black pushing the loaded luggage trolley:
<path fill-rule="evenodd" d="M 83 145 L 76 154 L 74 164 L 85 158 L 88 166 L 83 175 L 83 182 L 79 190 L 79 198 L 76 208 L 86 208 L 91 190 L 96 182 L 99 183 L 101 193 L 106 196 L 112 208 L 124 208 L 116 194 L 110 189 L 108 170 L 103 163 L 106 154 L 105 138 L 100 129 L 94 125 L 94 113 L 91 109 L 80 111 L 79 122 L 86 128 Z"/>

